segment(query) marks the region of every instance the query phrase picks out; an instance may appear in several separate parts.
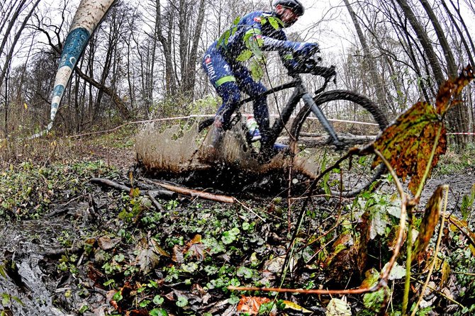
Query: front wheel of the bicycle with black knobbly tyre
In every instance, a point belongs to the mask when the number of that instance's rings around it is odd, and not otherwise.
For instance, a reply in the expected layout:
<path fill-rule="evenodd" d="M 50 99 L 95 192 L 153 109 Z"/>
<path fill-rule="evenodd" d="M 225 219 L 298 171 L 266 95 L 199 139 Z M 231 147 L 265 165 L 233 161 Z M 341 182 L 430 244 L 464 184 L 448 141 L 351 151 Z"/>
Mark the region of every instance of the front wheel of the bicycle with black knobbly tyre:
<path fill-rule="evenodd" d="M 333 123 L 345 149 L 337 149 L 332 145 L 330 135 L 321 127 L 308 106 L 301 108 L 291 125 L 291 137 L 296 142 L 298 157 L 308 159 L 308 162 L 317 166 L 317 173 L 333 165 L 345 154 L 346 149 L 374 140 L 388 125 L 386 115 L 373 101 L 352 91 L 325 91 L 313 100 Z M 356 196 L 386 171 L 382 164 L 371 169 L 373 159 L 374 155 L 369 155 L 352 159 L 351 163 L 348 160 L 342 162 L 340 169 L 331 171 L 321 181 L 321 188 L 335 196 Z"/>

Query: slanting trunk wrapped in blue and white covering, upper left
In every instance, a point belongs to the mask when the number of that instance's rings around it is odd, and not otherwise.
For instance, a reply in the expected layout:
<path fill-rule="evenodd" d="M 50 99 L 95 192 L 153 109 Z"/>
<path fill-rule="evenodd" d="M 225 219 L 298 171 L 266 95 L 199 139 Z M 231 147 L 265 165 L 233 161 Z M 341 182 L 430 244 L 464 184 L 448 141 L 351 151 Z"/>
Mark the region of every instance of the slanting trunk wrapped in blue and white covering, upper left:
<path fill-rule="evenodd" d="M 114 1 L 116 0 L 82 0 L 79 4 L 72 20 L 71 28 L 69 28 L 69 33 L 61 53 L 60 64 L 56 72 L 51 100 L 50 123 L 48 123 L 45 130 L 36 133 L 32 138 L 45 135 L 51 130 L 72 71 L 82 52 L 84 52 L 92 33 L 94 33 L 102 18 L 106 16 L 108 9 L 111 8 Z"/>

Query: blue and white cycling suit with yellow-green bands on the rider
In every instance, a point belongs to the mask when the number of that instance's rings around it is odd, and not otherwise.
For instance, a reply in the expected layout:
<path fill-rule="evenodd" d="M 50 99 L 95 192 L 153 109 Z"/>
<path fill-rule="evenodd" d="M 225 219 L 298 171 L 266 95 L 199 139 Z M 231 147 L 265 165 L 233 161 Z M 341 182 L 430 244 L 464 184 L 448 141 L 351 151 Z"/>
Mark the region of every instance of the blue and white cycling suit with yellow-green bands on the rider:
<path fill-rule="evenodd" d="M 255 97 L 254 114 L 262 134 L 262 142 L 267 140 L 269 131 L 269 112 L 267 98 L 259 97 L 266 87 L 252 79 L 247 67 L 236 58 L 244 51 L 249 50 L 250 41 L 255 41 L 261 50 L 276 50 L 286 67 L 294 62 L 289 58 L 289 52 L 299 44 L 287 40 L 281 28 L 274 28 L 269 21 L 261 23 L 263 19 L 275 17 L 274 13 L 255 11 L 242 17 L 235 26 L 235 32 L 228 40 L 216 40 L 203 57 L 202 66 L 211 84 L 215 86 L 218 95 L 223 99 L 223 104 L 216 113 L 216 118 L 227 128 L 231 115 L 238 106 L 240 91 Z"/>

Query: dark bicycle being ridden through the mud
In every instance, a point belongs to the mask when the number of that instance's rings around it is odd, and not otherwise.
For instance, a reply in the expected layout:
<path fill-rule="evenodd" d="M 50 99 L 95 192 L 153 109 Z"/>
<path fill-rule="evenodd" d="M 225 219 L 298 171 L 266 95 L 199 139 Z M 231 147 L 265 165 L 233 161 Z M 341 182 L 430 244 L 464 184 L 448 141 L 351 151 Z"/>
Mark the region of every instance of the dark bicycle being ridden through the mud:
<path fill-rule="evenodd" d="M 282 135 L 288 135 L 290 148 L 294 149 L 292 154 L 296 154 L 300 159 L 312 160 L 313 165 L 318 166 L 318 170 L 315 171 L 318 173 L 325 167 L 331 166 L 337 157 L 341 157 L 342 151 L 370 142 L 388 125 L 384 112 L 366 96 L 349 90 L 325 91 L 330 81 L 333 80 L 336 83 L 335 66 L 322 67 L 318 65 L 319 62 L 320 59 L 315 57 L 301 60 L 299 69 L 289 74 L 292 78 L 290 82 L 262 94 L 262 96 L 269 96 L 278 91 L 294 89 L 286 106 L 279 111 L 279 115 L 269 130 L 267 146 L 263 145 L 260 148 L 261 162 L 269 162 L 269 159 L 277 154 L 272 150 L 274 142 Z M 323 78 L 323 84 L 313 92 L 313 95 L 303 84 L 303 74 Z M 230 125 L 242 122 L 239 108 L 252 100 L 253 98 L 245 98 L 240 101 Z M 303 101 L 303 106 L 299 106 L 299 101 Z M 293 113 L 296 113 L 294 117 L 292 117 Z M 199 131 L 211 126 L 213 120 L 214 118 L 202 120 L 199 123 Z M 330 120 L 333 120 L 333 124 Z M 357 127 L 359 120 L 364 120 L 366 127 Z M 288 123 L 290 128 L 286 127 Z M 336 132 L 335 125 L 338 125 L 339 130 L 344 127 L 343 132 Z M 241 126 L 244 124 L 242 123 Z M 247 138 L 247 143 L 252 148 L 249 138 Z M 385 171 L 382 165 L 371 169 L 372 160 L 373 157 L 359 157 L 357 162 L 340 165 L 339 170 L 335 170 L 325 179 L 325 191 L 351 197 L 369 188 L 371 183 L 379 179 Z"/>

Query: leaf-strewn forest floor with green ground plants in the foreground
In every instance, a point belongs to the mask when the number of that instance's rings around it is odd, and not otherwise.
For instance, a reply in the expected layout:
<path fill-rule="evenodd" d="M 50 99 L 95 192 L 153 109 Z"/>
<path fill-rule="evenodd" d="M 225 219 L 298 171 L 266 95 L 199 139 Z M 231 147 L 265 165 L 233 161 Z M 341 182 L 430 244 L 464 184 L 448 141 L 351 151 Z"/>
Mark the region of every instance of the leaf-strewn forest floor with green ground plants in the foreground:
<path fill-rule="evenodd" d="M 374 285 L 398 225 L 389 211 L 398 208 L 393 191 L 350 201 L 314 196 L 306 208 L 303 199 L 289 206 L 285 196 L 256 190 L 233 196 L 234 203 L 160 195 L 162 188 L 145 176 L 130 179 L 131 143 L 109 141 L 75 141 L 69 159 L 0 171 L 0 315 L 376 315 L 380 308 L 401 315 L 401 271 L 386 298 L 381 290 L 336 296 L 228 290 Z M 449 166 L 453 161 L 434 172 L 421 198 L 423 205 L 437 186 L 449 185 L 447 212 L 461 219 L 444 233 L 432 290 L 417 315 L 475 309 L 475 248 L 469 247 L 475 164 L 464 159 Z M 123 186 L 133 181 L 136 189 L 101 186 L 92 178 Z M 430 251 L 413 266 L 411 302 L 420 296 L 434 248 L 432 238 Z M 396 263 L 399 270 L 404 259 Z"/>

